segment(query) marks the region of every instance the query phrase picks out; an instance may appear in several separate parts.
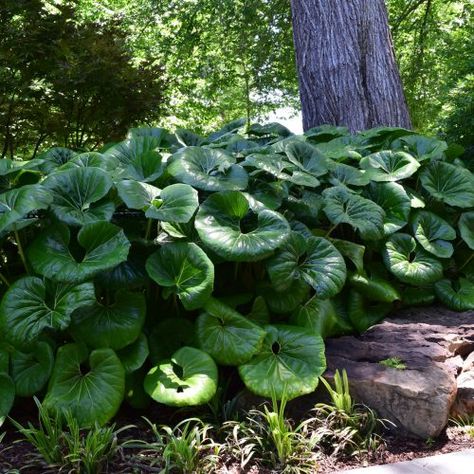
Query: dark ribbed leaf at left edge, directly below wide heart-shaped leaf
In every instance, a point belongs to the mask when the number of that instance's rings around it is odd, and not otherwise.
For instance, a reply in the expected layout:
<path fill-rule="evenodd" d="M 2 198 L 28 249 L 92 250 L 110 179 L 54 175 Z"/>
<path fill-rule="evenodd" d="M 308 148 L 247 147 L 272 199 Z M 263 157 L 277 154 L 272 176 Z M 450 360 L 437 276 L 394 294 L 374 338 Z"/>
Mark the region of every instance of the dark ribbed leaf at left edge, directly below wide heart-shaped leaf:
<path fill-rule="evenodd" d="M 53 283 L 23 277 L 13 283 L 0 305 L 0 332 L 14 345 L 34 341 L 45 329 L 63 330 L 71 313 L 94 300 L 94 285 Z"/>

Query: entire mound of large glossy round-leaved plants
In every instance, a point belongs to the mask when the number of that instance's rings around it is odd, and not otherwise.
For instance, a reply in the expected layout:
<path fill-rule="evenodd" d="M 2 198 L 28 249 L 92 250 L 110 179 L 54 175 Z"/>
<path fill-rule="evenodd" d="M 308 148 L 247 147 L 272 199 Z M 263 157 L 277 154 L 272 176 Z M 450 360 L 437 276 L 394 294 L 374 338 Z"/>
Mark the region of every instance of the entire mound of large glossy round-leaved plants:
<path fill-rule="evenodd" d="M 0 417 L 33 396 L 80 427 L 124 400 L 202 405 L 224 371 L 292 399 L 328 336 L 395 305 L 473 309 L 458 154 L 399 128 L 236 121 L 1 160 Z"/>

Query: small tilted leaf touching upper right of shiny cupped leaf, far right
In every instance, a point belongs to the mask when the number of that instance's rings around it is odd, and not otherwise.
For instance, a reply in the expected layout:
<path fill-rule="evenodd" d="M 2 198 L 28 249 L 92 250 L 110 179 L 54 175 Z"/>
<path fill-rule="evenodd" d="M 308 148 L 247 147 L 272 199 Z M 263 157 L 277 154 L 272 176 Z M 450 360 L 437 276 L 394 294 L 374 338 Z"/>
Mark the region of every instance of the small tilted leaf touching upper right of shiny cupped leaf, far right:
<path fill-rule="evenodd" d="M 456 238 L 456 231 L 441 217 L 428 211 L 416 212 L 410 220 L 413 235 L 428 252 L 439 258 L 449 258 L 454 252 L 448 242 Z"/>

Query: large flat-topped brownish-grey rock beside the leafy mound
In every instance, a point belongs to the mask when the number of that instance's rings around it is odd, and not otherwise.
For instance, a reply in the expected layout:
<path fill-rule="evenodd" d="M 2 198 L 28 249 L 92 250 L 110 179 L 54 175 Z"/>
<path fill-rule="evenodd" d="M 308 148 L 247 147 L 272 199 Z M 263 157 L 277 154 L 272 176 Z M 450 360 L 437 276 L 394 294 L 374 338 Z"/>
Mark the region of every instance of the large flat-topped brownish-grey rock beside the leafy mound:
<path fill-rule="evenodd" d="M 473 414 L 473 352 L 474 311 L 412 308 L 362 336 L 326 341 L 327 375 L 345 368 L 356 400 L 398 430 L 428 438 L 441 432 L 450 413 Z M 380 364 L 392 357 L 400 358 L 406 369 Z M 458 394 L 460 374 L 466 387 Z"/>

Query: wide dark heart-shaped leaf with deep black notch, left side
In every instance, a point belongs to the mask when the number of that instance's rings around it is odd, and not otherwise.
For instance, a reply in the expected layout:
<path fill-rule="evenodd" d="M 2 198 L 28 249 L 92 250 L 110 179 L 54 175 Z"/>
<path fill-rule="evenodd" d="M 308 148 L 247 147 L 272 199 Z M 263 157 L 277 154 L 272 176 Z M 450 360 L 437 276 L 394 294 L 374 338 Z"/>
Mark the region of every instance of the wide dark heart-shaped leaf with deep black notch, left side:
<path fill-rule="evenodd" d="M 109 222 L 86 224 L 71 242 L 68 227 L 58 224 L 43 231 L 27 249 L 33 269 L 56 281 L 79 282 L 127 260 L 130 242 Z"/>

